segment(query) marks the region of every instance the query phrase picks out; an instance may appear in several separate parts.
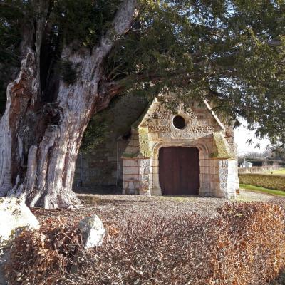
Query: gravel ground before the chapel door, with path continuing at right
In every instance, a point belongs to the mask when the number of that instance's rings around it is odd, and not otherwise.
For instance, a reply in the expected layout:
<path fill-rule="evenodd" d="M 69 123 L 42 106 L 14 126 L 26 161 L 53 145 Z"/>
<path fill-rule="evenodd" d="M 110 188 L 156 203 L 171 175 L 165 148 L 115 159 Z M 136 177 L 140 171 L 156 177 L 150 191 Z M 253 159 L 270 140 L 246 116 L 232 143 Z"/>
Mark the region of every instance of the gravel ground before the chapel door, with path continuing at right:
<path fill-rule="evenodd" d="M 166 215 L 170 213 L 195 213 L 204 217 L 214 217 L 217 215 L 217 208 L 228 202 L 227 199 L 211 197 L 170 197 L 154 196 L 144 197 L 139 195 L 102 195 L 102 194 L 79 194 L 78 197 L 83 201 L 83 207 L 75 210 L 53 210 L 33 209 L 38 219 L 46 217 L 61 216 L 68 219 L 78 220 L 90 214 L 97 214 L 103 222 L 107 224 L 120 223 L 124 217 L 129 215 L 141 214 L 142 212 L 153 212 Z M 263 193 L 244 191 L 237 195 L 238 201 L 250 202 L 275 202 L 279 198 Z"/>

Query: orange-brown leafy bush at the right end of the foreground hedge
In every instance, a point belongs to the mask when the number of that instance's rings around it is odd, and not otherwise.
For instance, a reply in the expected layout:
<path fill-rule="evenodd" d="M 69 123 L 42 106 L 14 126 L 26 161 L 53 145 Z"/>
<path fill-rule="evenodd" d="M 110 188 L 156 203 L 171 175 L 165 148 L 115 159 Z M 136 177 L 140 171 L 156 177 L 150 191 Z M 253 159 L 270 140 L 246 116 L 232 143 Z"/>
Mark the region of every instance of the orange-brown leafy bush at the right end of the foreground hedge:
<path fill-rule="evenodd" d="M 284 210 L 269 203 L 227 204 L 219 213 L 227 224 L 227 252 L 216 274 L 225 276 L 220 284 L 266 284 L 276 278 L 285 265 Z M 232 283 L 225 282 L 230 276 Z"/>

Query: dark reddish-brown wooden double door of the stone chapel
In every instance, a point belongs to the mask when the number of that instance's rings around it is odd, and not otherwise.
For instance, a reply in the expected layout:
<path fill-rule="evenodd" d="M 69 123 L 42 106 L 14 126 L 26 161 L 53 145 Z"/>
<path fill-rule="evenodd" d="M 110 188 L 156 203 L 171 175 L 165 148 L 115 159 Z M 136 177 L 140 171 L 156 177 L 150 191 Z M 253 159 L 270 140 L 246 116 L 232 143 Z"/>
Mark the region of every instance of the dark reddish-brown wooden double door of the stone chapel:
<path fill-rule="evenodd" d="M 162 195 L 198 195 L 199 150 L 196 147 L 162 147 L 159 177 Z"/>

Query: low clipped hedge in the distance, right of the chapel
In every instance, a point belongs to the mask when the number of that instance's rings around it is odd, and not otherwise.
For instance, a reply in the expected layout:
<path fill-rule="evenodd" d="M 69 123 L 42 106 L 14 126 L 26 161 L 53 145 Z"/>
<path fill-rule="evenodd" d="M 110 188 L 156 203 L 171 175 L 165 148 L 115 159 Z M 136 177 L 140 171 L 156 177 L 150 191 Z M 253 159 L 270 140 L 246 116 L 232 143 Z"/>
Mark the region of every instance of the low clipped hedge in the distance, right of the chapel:
<path fill-rule="evenodd" d="M 274 190 L 285 191 L 285 176 L 259 173 L 239 174 L 239 182 Z"/>

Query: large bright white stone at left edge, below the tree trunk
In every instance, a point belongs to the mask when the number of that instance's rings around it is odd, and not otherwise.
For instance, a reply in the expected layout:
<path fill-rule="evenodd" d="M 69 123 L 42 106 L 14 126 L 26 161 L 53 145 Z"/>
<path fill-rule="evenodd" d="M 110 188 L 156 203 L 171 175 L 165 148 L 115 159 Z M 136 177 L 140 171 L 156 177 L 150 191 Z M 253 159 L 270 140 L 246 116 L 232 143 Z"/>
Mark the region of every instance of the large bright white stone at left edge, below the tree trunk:
<path fill-rule="evenodd" d="M 38 229 L 40 224 L 23 199 L 0 198 L 0 243 L 20 227 Z"/>

